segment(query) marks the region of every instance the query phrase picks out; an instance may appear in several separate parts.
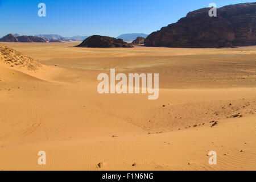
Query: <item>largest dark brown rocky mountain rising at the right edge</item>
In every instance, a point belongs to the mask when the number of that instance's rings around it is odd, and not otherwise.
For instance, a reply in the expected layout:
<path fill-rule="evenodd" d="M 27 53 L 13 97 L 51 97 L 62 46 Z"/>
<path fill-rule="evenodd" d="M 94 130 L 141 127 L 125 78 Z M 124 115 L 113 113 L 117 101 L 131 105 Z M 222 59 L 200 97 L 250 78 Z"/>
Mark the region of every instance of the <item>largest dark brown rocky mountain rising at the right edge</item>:
<path fill-rule="evenodd" d="M 217 9 L 189 12 L 177 23 L 152 32 L 145 46 L 163 47 L 236 47 L 256 45 L 256 3 L 241 3 Z"/>

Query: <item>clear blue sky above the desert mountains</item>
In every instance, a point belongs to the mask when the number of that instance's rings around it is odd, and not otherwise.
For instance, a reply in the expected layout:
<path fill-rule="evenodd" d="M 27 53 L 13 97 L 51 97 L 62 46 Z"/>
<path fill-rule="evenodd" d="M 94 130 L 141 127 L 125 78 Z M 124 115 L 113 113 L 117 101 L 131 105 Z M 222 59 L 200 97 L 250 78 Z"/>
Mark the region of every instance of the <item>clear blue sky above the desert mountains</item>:
<path fill-rule="evenodd" d="M 46 17 L 38 16 L 38 4 L 46 4 Z M 175 23 L 189 11 L 254 2 L 250 0 L 0 0 L 0 36 L 59 34 L 150 34 Z"/>

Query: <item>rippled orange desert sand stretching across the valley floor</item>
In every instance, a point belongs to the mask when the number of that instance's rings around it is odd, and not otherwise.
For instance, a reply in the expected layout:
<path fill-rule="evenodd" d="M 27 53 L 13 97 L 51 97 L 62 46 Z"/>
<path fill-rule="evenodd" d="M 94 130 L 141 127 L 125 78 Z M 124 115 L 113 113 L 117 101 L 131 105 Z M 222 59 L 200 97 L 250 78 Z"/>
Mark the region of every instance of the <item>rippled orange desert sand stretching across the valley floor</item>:
<path fill-rule="evenodd" d="M 256 46 L 2 44 L 34 66 L 0 59 L 0 170 L 256 169 Z M 158 100 L 99 94 L 110 68 L 159 73 Z"/>

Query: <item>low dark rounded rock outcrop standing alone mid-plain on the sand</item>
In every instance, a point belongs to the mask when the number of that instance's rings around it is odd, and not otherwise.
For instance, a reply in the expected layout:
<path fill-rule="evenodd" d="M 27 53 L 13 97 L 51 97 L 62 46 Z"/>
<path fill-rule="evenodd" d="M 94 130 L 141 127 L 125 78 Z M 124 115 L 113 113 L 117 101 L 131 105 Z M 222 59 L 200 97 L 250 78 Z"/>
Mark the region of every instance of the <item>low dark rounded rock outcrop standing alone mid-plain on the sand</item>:
<path fill-rule="evenodd" d="M 123 39 L 110 38 L 109 36 L 93 35 L 85 39 L 77 47 L 134 47 L 132 44 L 123 42 Z"/>

